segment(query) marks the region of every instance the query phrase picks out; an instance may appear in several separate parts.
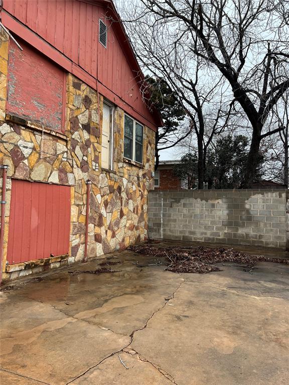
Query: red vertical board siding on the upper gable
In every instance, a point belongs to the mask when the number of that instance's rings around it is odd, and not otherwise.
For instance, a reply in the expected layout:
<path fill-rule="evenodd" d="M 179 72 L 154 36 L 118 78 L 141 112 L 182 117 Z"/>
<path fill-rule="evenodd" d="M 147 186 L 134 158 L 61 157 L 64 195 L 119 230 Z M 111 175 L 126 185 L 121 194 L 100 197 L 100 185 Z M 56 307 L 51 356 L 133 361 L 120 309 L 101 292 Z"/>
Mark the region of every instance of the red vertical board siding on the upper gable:
<path fill-rule="evenodd" d="M 106 19 L 108 9 L 100 3 L 92 5 L 78 0 L 5 0 L 4 9 L 83 69 L 88 76 L 98 79 L 111 92 L 105 94 L 104 90 L 105 97 L 118 105 L 119 100 L 114 99 L 114 95 L 119 97 L 143 118 L 154 122 L 151 112 L 142 101 L 135 79 L 138 74 L 130 66 L 135 59 L 131 53 L 123 51 L 120 39 L 126 38 L 119 32 L 119 22 L 111 23 L 109 18 Z M 98 41 L 100 18 L 107 25 L 107 48 Z M 5 13 L 3 21 L 9 23 L 15 33 L 20 31 L 20 27 L 15 28 L 16 24 L 9 21 Z M 88 84 L 91 85 L 91 82 Z M 141 120 L 139 116 L 134 117 Z M 141 121 L 148 124 L 143 119 Z M 152 124 L 148 125 L 153 128 Z"/>

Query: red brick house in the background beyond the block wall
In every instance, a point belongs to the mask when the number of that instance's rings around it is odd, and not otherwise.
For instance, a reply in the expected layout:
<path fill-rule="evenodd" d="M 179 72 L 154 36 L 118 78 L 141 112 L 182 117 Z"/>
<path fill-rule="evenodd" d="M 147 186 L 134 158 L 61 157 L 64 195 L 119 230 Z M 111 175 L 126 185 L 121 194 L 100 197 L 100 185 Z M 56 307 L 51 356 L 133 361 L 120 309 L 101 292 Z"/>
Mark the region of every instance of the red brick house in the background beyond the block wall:
<path fill-rule="evenodd" d="M 155 190 L 176 190 L 188 188 L 187 180 L 181 180 L 174 173 L 175 164 L 181 164 L 181 160 L 163 160 L 159 162 L 158 169 L 155 171 Z"/>

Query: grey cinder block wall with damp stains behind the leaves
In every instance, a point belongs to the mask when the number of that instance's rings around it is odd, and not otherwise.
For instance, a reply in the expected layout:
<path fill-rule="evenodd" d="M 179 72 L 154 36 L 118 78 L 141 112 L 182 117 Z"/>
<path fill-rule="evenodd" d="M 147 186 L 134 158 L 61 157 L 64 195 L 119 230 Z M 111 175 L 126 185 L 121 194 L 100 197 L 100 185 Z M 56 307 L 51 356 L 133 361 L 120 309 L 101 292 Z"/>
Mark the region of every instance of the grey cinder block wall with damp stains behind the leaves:
<path fill-rule="evenodd" d="M 287 199 L 285 189 L 150 191 L 149 237 L 285 249 Z"/>

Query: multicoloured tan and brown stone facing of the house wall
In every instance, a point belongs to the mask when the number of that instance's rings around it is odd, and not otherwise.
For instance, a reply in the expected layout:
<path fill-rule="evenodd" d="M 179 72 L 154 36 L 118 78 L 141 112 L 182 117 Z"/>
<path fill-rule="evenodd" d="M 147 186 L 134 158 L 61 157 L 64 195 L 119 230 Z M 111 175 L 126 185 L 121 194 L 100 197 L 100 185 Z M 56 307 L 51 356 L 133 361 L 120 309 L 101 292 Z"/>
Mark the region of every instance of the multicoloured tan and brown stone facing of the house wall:
<path fill-rule="evenodd" d="M 103 97 L 67 75 L 65 135 L 42 131 L 28 123 L 22 126 L 5 121 L 8 44 L 0 35 L 0 163 L 8 164 L 4 264 L 9 236 L 11 178 L 51 182 L 71 186 L 71 233 L 68 262 L 84 256 L 86 181 L 90 194 L 88 257 L 124 249 L 147 238 L 148 190 L 153 188 L 155 132 L 144 127 L 143 166 L 123 159 L 124 112 L 114 110 L 113 171 L 101 169 Z M 99 100 L 99 110 L 98 110 Z M 1 179 L 2 182 L 2 179 Z M 0 190 L 0 194 L 2 191 Z M 58 267 L 67 261 L 53 262 Z M 29 269 L 8 268 L 4 279 L 26 275 Z"/>

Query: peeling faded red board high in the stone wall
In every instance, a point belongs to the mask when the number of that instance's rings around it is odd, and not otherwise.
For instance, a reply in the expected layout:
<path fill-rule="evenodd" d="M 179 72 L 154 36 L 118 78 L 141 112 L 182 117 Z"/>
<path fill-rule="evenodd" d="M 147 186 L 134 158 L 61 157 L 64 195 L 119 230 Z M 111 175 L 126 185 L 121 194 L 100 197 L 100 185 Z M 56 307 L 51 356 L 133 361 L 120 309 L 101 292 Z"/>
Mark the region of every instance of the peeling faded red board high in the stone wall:
<path fill-rule="evenodd" d="M 19 40 L 10 41 L 7 112 L 64 131 L 65 72 L 44 55 Z"/>

